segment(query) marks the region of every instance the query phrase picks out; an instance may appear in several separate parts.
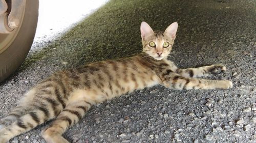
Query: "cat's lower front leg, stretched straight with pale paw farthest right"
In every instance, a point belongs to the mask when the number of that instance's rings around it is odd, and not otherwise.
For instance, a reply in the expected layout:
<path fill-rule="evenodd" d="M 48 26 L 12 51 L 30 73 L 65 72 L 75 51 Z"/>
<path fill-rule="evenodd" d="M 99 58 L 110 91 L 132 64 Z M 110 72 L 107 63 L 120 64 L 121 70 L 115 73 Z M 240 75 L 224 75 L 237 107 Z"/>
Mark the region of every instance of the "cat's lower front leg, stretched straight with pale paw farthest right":
<path fill-rule="evenodd" d="M 191 90 L 191 89 L 231 89 L 233 84 L 229 80 L 207 80 L 200 78 L 186 78 L 179 74 L 166 75 L 162 80 L 166 88 L 178 90 Z"/>

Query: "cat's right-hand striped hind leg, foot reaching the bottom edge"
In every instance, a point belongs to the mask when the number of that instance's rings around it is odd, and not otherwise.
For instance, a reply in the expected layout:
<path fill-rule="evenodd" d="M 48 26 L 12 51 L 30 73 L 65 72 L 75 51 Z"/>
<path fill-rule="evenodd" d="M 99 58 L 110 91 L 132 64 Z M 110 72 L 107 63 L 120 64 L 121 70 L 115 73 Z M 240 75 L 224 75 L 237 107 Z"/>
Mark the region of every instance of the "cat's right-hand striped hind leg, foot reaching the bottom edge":
<path fill-rule="evenodd" d="M 77 101 L 69 103 L 63 109 L 58 117 L 51 123 L 51 125 L 42 131 L 42 137 L 46 142 L 64 143 L 69 142 L 62 134 L 70 127 L 77 123 L 92 106 L 87 101 Z"/>

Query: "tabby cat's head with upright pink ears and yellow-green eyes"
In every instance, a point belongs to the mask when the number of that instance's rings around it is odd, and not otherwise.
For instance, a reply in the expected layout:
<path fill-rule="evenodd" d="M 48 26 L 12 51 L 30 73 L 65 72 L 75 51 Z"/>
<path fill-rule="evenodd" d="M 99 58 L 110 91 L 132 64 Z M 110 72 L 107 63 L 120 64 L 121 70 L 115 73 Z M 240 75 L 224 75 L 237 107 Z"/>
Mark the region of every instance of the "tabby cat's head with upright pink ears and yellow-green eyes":
<path fill-rule="evenodd" d="M 170 24 L 164 32 L 153 31 L 150 25 L 142 22 L 140 25 L 140 32 L 142 38 L 143 52 L 152 56 L 156 60 L 167 58 L 172 50 L 178 23 Z"/>

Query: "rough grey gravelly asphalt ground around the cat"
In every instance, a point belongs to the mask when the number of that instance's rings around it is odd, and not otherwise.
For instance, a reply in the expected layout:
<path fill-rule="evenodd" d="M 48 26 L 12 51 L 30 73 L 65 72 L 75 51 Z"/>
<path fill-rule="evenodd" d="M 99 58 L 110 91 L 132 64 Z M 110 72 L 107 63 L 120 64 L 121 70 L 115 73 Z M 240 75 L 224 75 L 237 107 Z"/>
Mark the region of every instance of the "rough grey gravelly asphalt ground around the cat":
<path fill-rule="evenodd" d="M 25 63 L 0 85 L 0 118 L 34 84 L 51 73 L 141 51 L 139 26 L 165 30 L 178 21 L 170 59 L 177 66 L 223 64 L 210 79 L 231 90 L 175 91 L 161 86 L 94 106 L 64 136 L 70 142 L 256 142 L 256 2 L 110 1 L 55 41 L 34 44 Z M 49 123 L 10 142 L 45 142 Z"/>

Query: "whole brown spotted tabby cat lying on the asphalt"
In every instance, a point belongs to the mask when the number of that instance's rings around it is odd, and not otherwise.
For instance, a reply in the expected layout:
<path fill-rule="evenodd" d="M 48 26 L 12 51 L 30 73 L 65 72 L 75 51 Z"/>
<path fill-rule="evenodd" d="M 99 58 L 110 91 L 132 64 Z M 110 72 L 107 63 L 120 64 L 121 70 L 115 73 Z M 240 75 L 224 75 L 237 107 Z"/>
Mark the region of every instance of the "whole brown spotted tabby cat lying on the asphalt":
<path fill-rule="evenodd" d="M 174 22 L 165 32 L 154 32 L 142 22 L 142 53 L 61 70 L 41 81 L 0 121 L 0 143 L 51 119 L 54 121 L 42 130 L 42 137 L 46 142 L 69 142 L 62 134 L 92 105 L 157 84 L 178 90 L 232 88 L 228 80 L 196 78 L 219 74 L 226 70 L 223 65 L 179 69 L 167 60 L 177 28 L 178 23 Z"/>

